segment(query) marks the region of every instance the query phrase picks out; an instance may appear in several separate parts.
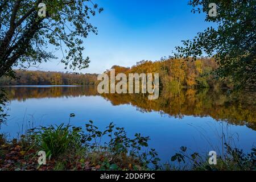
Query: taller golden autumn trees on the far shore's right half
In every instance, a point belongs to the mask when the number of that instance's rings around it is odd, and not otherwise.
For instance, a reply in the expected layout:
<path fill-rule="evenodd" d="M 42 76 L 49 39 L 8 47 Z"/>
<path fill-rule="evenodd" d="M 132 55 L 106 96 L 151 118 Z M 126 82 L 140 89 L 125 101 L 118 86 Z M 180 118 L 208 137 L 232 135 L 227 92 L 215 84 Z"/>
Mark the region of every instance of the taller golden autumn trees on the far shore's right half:
<path fill-rule="evenodd" d="M 227 88 L 232 87 L 230 80 L 214 79 L 213 71 L 218 65 L 213 59 L 201 57 L 196 61 L 182 59 L 162 59 L 160 61 L 140 61 L 131 68 L 114 65 L 118 73 L 159 73 L 160 85 L 164 88 Z M 110 71 L 106 71 L 110 74 Z"/>

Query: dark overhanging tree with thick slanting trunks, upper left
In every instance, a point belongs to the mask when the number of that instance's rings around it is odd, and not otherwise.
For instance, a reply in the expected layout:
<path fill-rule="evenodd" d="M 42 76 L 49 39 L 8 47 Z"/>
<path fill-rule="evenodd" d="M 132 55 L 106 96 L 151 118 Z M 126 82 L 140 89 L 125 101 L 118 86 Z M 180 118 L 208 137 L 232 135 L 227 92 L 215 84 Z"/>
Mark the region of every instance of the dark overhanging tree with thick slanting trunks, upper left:
<path fill-rule="evenodd" d="M 42 4 L 46 16 L 40 16 Z M 0 77 L 14 76 L 13 66 L 29 67 L 56 59 L 48 47 L 62 52 L 61 62 L 71 69 L 88 67 L 82 55 L 83 39 L 97 34 L 88 22 L 102 11 L 90 0 L 1 0 L 0 2 Z M 55 51 L 56 52 L 56 51 Z"/>

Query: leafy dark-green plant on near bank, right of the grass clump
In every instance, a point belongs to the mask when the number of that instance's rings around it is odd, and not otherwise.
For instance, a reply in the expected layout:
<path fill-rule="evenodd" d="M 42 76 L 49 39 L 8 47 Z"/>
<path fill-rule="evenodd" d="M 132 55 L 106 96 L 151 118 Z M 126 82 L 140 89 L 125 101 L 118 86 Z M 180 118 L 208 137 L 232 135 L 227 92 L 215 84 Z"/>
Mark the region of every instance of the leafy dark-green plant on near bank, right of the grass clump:
<path fill-rule="evenodd" d="M 136 168 L 136 166 L 142 167 L 144 169 L 148 166 L 154 166 L 154 169 L 159 168 L 157 158 L 158 154 L 154 149 L 150 149 L 149 152 L 142 151 L 148 147 L 149 137 L 142 137 L 141 134 L 135 134 L 133 139 L 127 137 L 125 129 L 122 127 L 115 127 L 113 123 L 110 123 L 106 127 L 105 131 L 99 131 L 98 127 L 93 125 L 93 122 L 90 121 L 89 124 L 86 124 L 86 133 L 84 139 L 86 145 L 91 148 L 92 151 L 103 152 L 107 154 L 108 159 L 111 159 L 111 162 L 102 162 L 102 168 L 104 169 L 113 169 L 115 163 L 119 163 L 118 167 L 123 168 Z M 109 142 L 101 143 L 102 138 L 109 137 Z"/>

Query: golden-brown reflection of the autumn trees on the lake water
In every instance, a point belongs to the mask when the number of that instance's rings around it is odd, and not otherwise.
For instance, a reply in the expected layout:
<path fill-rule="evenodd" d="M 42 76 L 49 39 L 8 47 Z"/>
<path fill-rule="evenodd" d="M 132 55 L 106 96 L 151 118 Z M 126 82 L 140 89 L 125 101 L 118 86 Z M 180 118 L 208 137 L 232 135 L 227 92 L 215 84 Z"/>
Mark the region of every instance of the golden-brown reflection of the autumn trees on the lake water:
<path fill-rule="evenodd" d="M 7 87 L 10 100 L 28 98 L 55 98 L 97 96 L 93 86 L 76 87 Z M 183 118 L 212 117 L 235 125 L 246 125 L 256 130 L 255 92 L 228 93 L 227 90 L 175 89 L 162 90 L 158 100 L 148 100 L 143 94 L 102 94 L 112 105 L 130 104 L 141 112 L 158 111 L 160 114 Z"/>

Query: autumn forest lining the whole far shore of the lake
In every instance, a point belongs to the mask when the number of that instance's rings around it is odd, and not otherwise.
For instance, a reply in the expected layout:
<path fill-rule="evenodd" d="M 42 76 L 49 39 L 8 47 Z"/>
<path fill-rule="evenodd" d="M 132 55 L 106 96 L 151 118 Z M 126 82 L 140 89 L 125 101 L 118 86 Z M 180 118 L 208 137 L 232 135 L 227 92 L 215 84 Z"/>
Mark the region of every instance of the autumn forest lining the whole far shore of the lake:
<path fill-rule="evenodd" d="M 201 57 L 196 61 L 182 59 L 161 59 L 139 61 L 131 68 L 114 65 L 115 74 L 159 73 L 163 88 L 231 88 L 230 79 L 217 79 L 214 71 L 218 68 L 213 59 Z M 110 70 L 105 71 L 110 73 Z M 43 72 L 16 70 L 16 79 L 1 77 L 0 85 L 97 85 L 97 74 L 73 72 Z"/>

